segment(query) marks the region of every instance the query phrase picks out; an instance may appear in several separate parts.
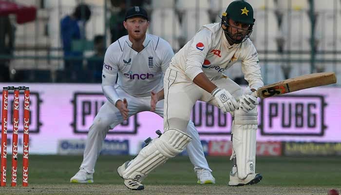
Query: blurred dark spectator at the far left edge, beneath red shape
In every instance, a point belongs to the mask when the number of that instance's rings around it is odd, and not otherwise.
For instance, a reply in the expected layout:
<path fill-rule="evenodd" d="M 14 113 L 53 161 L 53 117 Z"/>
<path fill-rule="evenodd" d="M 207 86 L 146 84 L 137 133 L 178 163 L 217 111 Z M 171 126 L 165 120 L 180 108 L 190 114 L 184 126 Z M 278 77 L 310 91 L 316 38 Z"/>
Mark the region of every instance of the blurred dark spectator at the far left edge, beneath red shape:
<path fill-rule="evenodd" d="M 8 16 L 0 16 L 0 55 L 11 56 L 14 50 L 14 26 Z M 10 59 L 0 58 L 0 82 L 8 82 Z"/>

